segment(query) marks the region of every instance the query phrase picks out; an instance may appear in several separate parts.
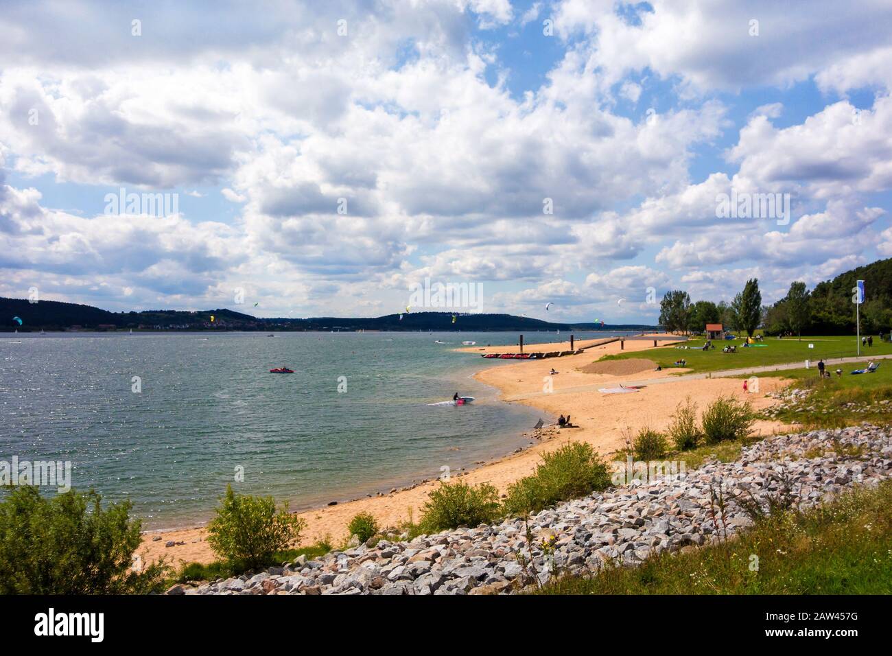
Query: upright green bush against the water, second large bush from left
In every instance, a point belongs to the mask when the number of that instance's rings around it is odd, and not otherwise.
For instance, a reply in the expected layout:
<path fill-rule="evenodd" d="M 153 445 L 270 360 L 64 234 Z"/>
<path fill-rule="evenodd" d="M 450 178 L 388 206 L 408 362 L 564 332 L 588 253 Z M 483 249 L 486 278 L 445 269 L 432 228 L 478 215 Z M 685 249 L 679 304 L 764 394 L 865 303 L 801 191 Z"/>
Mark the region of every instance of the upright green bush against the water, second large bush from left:
<path fill-rule="evenodd" d="M 208 525 L 208 542 L 234 567 L 257 569 L 267 566 L 276 552 L 299 544 L 305 526 L 288 512 L 287 503 L 277 510 L 271 496 L 235 494 L 227 486 L 217 516 Z"/>

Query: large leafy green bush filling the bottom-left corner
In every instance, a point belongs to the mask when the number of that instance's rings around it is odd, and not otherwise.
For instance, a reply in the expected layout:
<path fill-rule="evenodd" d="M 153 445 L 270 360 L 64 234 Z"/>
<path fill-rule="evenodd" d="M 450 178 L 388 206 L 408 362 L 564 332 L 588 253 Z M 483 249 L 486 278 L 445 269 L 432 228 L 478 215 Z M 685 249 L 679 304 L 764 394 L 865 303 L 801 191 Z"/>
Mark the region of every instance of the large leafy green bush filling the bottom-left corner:
<path fill-rule="evenodd" d="M 17 487 L 0 502 L 0 594 L 145 594 L 167 566 L 131 569 L 139 519 L 128 501 L 102 507 L 92 490 L 52 498 Z"/>

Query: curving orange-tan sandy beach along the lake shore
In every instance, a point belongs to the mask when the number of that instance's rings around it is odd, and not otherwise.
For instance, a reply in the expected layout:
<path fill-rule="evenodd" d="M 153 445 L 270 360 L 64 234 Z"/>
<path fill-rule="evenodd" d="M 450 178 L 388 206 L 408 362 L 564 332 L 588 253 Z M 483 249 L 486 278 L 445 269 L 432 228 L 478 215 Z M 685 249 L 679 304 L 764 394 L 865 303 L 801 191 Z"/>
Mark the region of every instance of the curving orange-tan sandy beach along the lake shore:
<path fill-rule="evenodd" d="M 663 336 L 665 338 L 665 336 Z M 707 403 L 723 394 L 739 397 L 744 395 L 742 382 L 737 378 L 703 378 L 679 380 L 660 385 L 645 386 L 631 394 L 602 394 L 593 386 L 617 387 L 628 381 L 662 379 L 685 372 L 683 369 L 655 371 L 648 361 L 648 350 L 653 348 L 649 340 L 625 340 L 624 352 L 640 352 L 640 359 L 632 362 L 607 361 L 593 364 L 600 357 L 610 353 L 620 353 L 620 342 L 598 344 L 604 340 L 576 342 L 576 347 L 586 347 L 584 353 L 550 358 L 541 361 L 500 362 L 496 366 L 482 370 L 475 378 L 500 391 L 500 399 L 509 403 L 524 403 L 542 411 L 546 424 L 558 414 L 569 414 L 573 423 L 580 428 L 545 428 L 533 435 L 528 434 L 531 444 L 520 453 L 512 453 L 503 458 L 483 464 L 476 469 L 461 473 L 461 480 L 470 484 L 491 483 L 504 492 L 518 478 L 529 475 L 541 460 L 541 453 L 547 453 L 568 440 L 588 442 L 599 453 L 609 455 L 624 448 L 625 436 L 639 428 L 650 427 L 657 430 L 666 428 L 670 416 L 678 403 L 687 396 L 699 404 L 703 411 Z M 552 345 L 549 350 L 558 350 Z M 462 351 L 478 352 L 483 346 L 470 346 Z M 506 347 L 490 347 L 496 353 Z M 498 349 L 501 349 L 499 351 Z M 566 344 L 569 349 L 569 344 Z M 526 350 L 526 349 L 524 349 Z M 541 350 L 541 349 L 540 349 Z M 560 350 L 565 350 L 563 347 Z M 550 375 L 550 370 L 558 371 Z M 780 378 L 760 378 L 759 394 L 746 394 L 756 410 L 777 403 L 764 394 L 785 386 Z M 585 389 L 579 389 L 584 387 Z M 788 428 L 776 421 L 759 421 L 755 430 L 762 435 L 771 435 Z M 453 478 L 456 476 L 453 473 Z M 417 520 L 428 495 L 439 483 L 432 481 L 411 489 L 401 490 L 380 497 L 359 499 L 339 503 L 317 510 L 301 512 L 307 522 L 301 544 L 314 544 L 323 537 L 329 537 L 338 544 L 347 537 L 347 525 L 361 511 L 368 511 L 376 517 L 382 527 L 394 526 L 405 519 Z M 153 540 L 160 536 L 161 540 Z M 173 547 L 165 547 L 168 541 L 183 542 Z M 147 532 L 138 553 L 145 561 L 166 557 L 174 564 L 179 562 L 210 562 L 214 560 L 210 545 L 205 541 L 202 527 Z"/>

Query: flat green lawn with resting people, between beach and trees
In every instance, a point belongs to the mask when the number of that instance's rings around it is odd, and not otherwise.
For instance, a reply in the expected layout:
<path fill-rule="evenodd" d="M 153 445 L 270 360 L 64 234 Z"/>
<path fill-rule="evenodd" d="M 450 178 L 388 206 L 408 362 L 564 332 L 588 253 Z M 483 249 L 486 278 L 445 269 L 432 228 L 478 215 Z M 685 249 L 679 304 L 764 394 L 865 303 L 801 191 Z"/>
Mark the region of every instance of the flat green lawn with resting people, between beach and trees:
<path fill-rule="evenodd" d="M 855 336 L 810 336 L 798 341 L 796 337 L 765 337 L 762 345 L 743 348 L 743 340 L 735 339 L 722 342 L 714 341 L 714 351 L 702 351 L 698 346 L 703 346 L 705 339 L 697 337 L 689 340 L 685 345 L 693 348 L 679 348 L 677 346 L 661 346 L 648 351 L 620 353 L 618 355 L 605 355 L 604 360 L 624 360 L 628 358 L 648 358 L 657 362 L 664 369 L 672 369 L 676 360 L 682 358 L 688 362 L 688 369 L 701 371 L 720 371 L 728 369 L 743 369 L 747 367 L 761 367 L 772 364 L 787 364 L 801 361 L 805 366 L 805 360 L 818 361 L 829 358 L 854 357 Z M 809 348 L 808 345 L 814 345 Z M 737 353 L 722 353 L 725 345 L 737 345 Z M 874 337 L 871 347 L 862 347 L 863 357 L 869 359 L 871 355 L 892 354 L 892 344 L 880 342 Z M 854 367 L 843 367 L 849 371 Z M 881 369 L 881 367 L 880 367 Z M 859 378 L 854 376 L 852 378 Z"/>

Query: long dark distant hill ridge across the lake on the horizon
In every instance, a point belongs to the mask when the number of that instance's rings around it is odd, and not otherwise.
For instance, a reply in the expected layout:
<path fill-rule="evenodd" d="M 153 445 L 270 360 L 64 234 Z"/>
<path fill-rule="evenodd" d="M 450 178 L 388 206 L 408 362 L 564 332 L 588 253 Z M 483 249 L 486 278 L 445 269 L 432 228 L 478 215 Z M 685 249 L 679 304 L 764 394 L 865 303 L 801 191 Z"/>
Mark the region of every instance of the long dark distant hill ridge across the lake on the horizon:
<path fill-rule="evenodd" d="M 455 323 L 452 317 L 456 316 Z M 21 326 L 13 317 L 19 317 Z M 213 320 L 211 321 L 211 317 Z M 310 319 L 262 319 L 250 314 L 217 310 L 146 310 L 110 312 L 91 305 L 0 297 L 0 330 L 438 330 L 438 331 L 548 331 L 548 330 L 650 330 L 642 324 L 552 323 L 511 314 L 457 314 L 410 312 L 356 319 L 313 317 Z"/>

